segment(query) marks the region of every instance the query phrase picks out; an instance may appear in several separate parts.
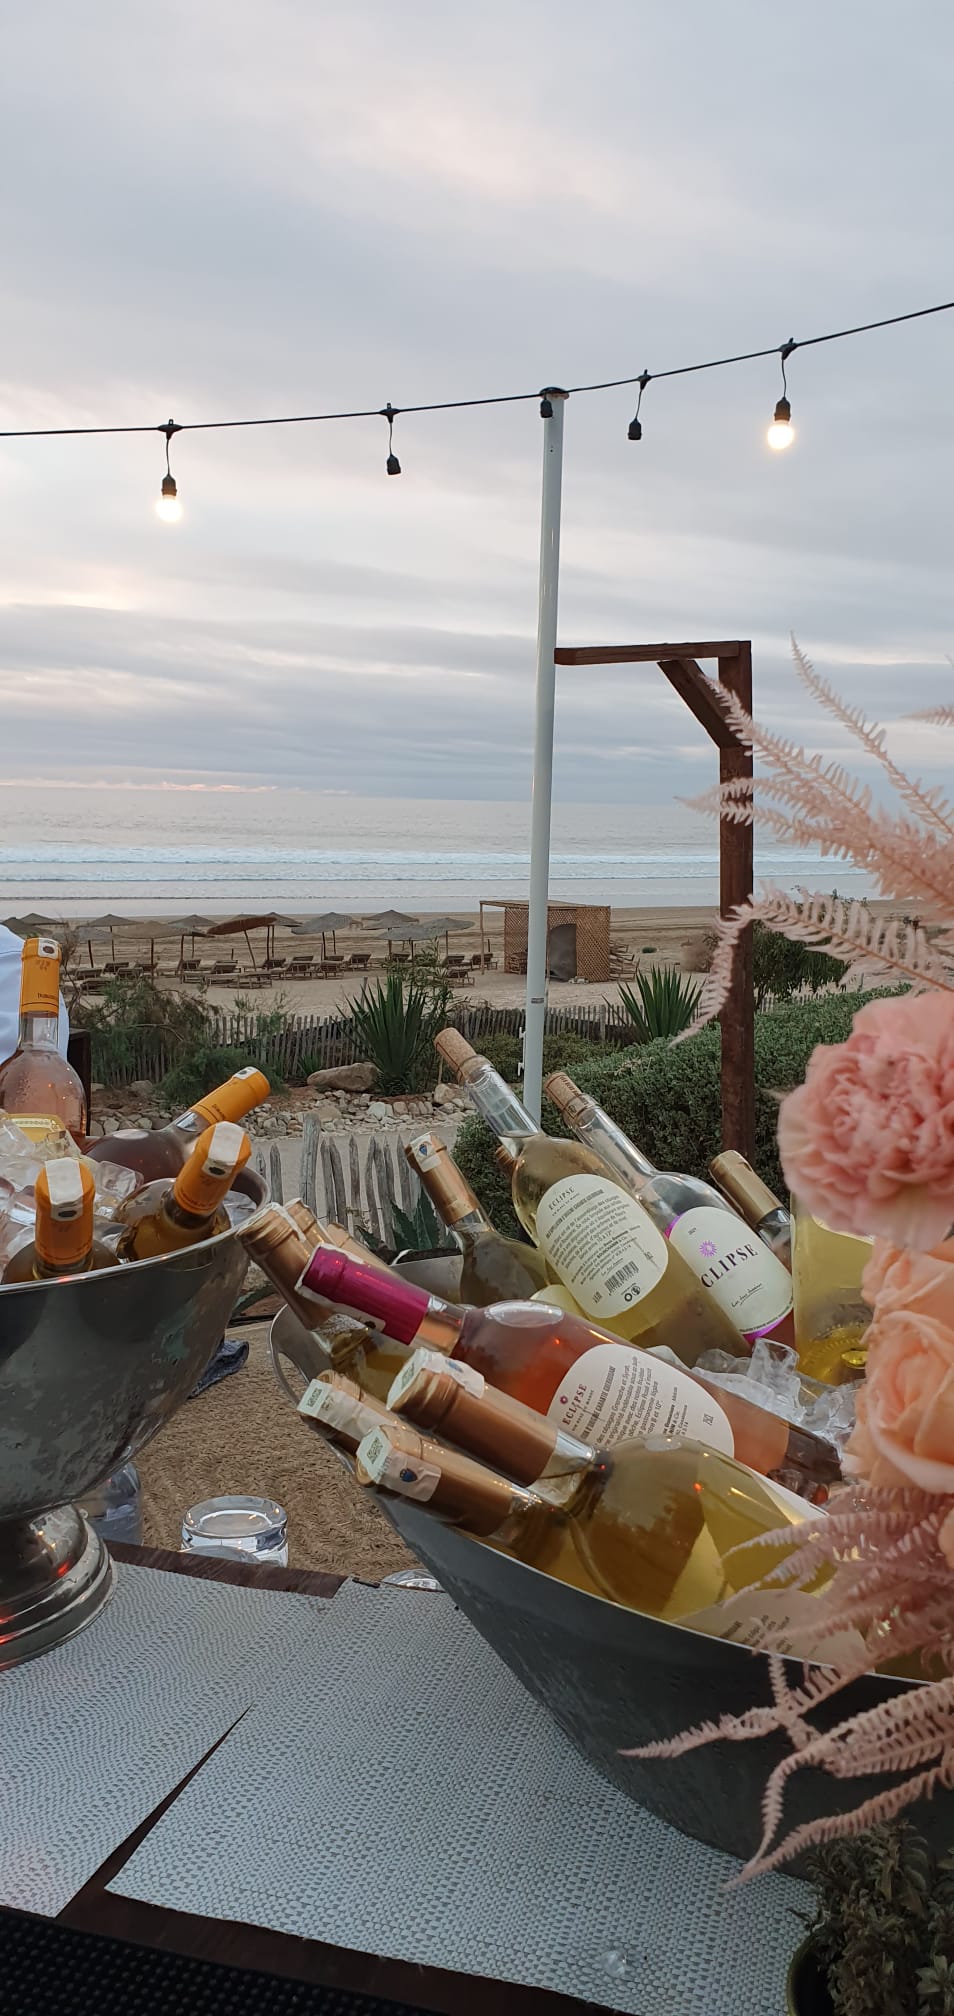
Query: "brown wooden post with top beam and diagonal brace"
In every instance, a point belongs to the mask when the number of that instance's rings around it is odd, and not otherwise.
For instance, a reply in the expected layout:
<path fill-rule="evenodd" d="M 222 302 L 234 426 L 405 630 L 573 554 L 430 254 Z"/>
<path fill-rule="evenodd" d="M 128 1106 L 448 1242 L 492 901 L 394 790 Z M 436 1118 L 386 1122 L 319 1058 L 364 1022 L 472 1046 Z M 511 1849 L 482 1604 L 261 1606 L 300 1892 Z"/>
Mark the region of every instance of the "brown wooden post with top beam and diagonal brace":
<path fill-rule="evenodd" d="M 698 663 L 714 657 L 718 681 Z M 726 720 L 726 694 L 746 714 L 752 712 L 752 645 L 746 639 L 722 643 L 619 643 L 563 645 L 557 665 L 660 665 L 680 700 L 696 716 L 718 748 L 720 784 L 752 776 L 752 752 Z M 754 887 L 752 827 L 722 818 L 718 829 L 718 907 L 728 917 L 746 903 Z M 732 990 L 722 1022 L 722 1147 L 734 1147 L 748 1161 L 754 1155 L 754 990 L 752 933 L 742 937 L 732 974 Z"/>

